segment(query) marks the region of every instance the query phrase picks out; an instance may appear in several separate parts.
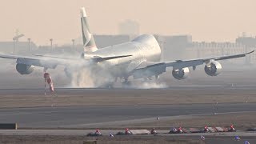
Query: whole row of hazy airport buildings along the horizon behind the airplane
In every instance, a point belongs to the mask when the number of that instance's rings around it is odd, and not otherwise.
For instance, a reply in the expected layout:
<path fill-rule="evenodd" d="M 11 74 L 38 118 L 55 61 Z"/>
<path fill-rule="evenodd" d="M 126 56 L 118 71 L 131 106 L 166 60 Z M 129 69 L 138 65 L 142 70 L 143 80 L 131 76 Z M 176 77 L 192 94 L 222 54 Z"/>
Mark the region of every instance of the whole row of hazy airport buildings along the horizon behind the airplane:
<path fill-rule="evenodd" d="M 210 56 L 241 54 L 255 50 L 256 38 L 239 37 L 235 42 L 193 42 L 191 35 L 154 35 L 162 49 L 162 61 L 206 58 Z M 129 42 L 134 35 L 94 35 L 98 48 Z M 82 38 L 72 44 L 58 46 L 37 46 L 34 42 L 0 42 L 0 52 L 5 54 L 80 54 Z M 256 53 L 245 58 L 226 60 L 230 63 L 254 64 Z"/>

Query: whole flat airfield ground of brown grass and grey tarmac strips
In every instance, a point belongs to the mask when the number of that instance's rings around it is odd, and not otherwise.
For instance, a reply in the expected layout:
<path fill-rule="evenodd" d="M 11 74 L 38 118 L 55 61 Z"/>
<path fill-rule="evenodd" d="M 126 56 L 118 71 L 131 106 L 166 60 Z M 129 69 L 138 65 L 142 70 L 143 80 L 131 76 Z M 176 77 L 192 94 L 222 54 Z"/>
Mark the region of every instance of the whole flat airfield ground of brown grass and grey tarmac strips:
<path fill-rule="evenodd" d="M 241 75 L 246 78 L 249 76 L 244 73 Z M 201 128 L 207 122 L 211 122 L 209 126 L 218 126 L 214 125 L 214 122 L 219 126 L 229 126 L 231 122 L 235 122 L 238 130 L 256 126 L 254 78 L 220 77 L 203 80 L 196 77 L 185 82 L 170 81 L 167 87 L 161 89 L 83 89 L 67 88 L 57 83 L 55 94 L 48 93 L 46 96 L 41 86 L 43 83 L 34 80 L 37 78 L 30 79 L 29 82 L 32 83 L 27 82 L 25 86 L 22 85 L 23 87 L 13 86 L 13 83 L 17 82 L 16 79 L 10 83 L 11 86 L 8 85 L 9 81 L 4 86 L 2 82 L 2 86 L 6 89 L 0 90 L 0 122 L 18 123 L 18 130 L 0 130 L 0 138 L 3 140 L 14 139 L 14 143 L 18 143 L 22 139 L 34 143 L 41 138 L 44 141 L 47 139 L 46 142 L 62 141 L 59 143 L 63 143 L 69 140 L 82 142 L 91 139 L 85 135 L 94 132 L 95 128 L 102 129 L 102 134 L 107 135 L 116 134 L 126 126 L 131 126 L 129 127 L 131 129 L 134 126 L 137 129 L 145 127 L 150 130 L 161 122 L 158 125 L 159 128 L 162 127 L 158 130 L 161 134 L 156 137 L 115 136 L 114 140 L 117 142 L 134 140 L 134 143 L 138 143 L 135 140 L 153 142 L 158 139 L 161 143 L 162 139 L 166 141 L 178 139 L 181 142 L 186 139 L 189 142 L 198 140 L 201 134 L 166 133 L 170 127 L 181 124 L 186 125 L 184 126 L 186 128 L 191 126 L 190 124 Z M 34 87 L 31 88 L 31 85 Z M 213 116 L 213 113 L 217 116 Z M 159 121 L 157 117 L 160 118 Z M 256 133 L 204 135 L 207 143 L 234 143 L 234 135 L 241 136 L 243 140 L 250 140 L 251 143 L 256 142 Z M 106 136 L 99 138 L 98 141 L 106 142 L 110 139 Z"/>

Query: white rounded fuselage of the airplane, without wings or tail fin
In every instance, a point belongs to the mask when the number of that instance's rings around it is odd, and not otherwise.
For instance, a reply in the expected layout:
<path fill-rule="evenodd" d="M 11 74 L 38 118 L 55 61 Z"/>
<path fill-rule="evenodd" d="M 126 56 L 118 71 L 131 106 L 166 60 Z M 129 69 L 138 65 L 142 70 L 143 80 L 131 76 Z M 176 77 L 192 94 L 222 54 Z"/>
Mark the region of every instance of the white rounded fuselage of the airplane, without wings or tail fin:
<path fill-rule="evenodd" d="M 127 74 L 134 70 L 141 62 L 158 62 L 161 57 L 161 49 L 153 35 L 144 34 L 131 42 L 105 47 L 85 55 L 89 57 L 131 55 L 126 58 L 116 58 L 98 63 L 98 66 L 103 66 L 104 70 L 109 70 L 114 77 L 124 77 L 129 76 Z"/>

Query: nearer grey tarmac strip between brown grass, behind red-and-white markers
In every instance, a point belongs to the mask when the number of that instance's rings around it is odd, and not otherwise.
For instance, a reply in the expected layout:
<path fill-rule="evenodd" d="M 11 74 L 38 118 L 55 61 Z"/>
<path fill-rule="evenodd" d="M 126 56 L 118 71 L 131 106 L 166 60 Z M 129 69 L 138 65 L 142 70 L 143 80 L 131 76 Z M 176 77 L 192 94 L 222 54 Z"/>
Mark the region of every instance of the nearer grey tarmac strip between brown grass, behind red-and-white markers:
<path fill-rule="evenodd" d="M 26 128 L 90 128 L 108 122 L 155 120 L 190 114 L 230 113 L 256 110 L 255 103 L 225 103 L 144 106 L 66 106 L 11 108 L 0 110 L 0 122 L 17 122 Z M 136 122 L 136 121 L 134 121 Z"/>

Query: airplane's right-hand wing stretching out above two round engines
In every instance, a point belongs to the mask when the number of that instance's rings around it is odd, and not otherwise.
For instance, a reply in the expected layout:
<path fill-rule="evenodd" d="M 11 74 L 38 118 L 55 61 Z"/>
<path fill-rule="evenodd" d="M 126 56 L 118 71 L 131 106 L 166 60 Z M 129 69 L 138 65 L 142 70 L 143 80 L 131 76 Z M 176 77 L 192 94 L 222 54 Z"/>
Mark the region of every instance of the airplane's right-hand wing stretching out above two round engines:
<path fill-rule="evenodd" d="M 198 59 L 190 59 L 190 60 L 177 60 L 171 62 L 141 62 L 134 70 L 130 72 L 134 78 L 147 78 L 154 75 L 160 75 L 166 72 L 167 67 L 173 67 L 174 70 L 182 69 L 185 67 L 193 67 L 195 69 L 196 66 L 202 65 L 204 63 L 208 64 L 211 61 L 219 61 L 231 58 L 242 58 L 245 57 L 246 54 L 251 54 L 253 51 L 244 54 L 233 54 L 227 56 L 220 57 L 212 57 L 212 58 L 198 58 Z"/>

